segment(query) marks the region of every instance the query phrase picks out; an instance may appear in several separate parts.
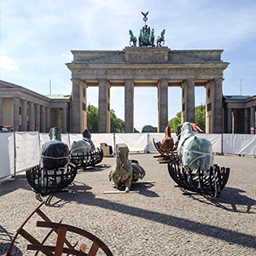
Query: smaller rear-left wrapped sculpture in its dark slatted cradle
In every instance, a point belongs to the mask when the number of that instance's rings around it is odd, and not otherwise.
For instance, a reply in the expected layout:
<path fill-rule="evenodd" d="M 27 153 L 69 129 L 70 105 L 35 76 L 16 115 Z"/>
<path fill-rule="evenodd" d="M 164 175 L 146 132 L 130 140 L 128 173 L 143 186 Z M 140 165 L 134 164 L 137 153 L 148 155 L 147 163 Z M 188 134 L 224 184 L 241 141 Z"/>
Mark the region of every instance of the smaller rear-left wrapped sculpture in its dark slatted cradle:
<path fill-rule="evenodd" d="M 103 159 L 102 149 L 96 148 L 90 138 L 90 131 L 83 131 L 83 139 L 74 141 L 71 145 L 70 161 L 78 168 L 96 166 Z"/>

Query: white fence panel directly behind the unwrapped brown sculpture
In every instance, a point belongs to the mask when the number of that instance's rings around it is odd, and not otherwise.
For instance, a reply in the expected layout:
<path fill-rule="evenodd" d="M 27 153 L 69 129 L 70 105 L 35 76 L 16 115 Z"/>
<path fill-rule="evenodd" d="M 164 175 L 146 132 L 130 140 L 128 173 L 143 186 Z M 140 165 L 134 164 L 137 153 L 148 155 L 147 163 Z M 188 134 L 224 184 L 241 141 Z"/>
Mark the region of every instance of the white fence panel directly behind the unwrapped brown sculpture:
<path fill-rule="evenodd" d="M 148 133 L 116 133 L 115 143 L 127 144 L 129 150 L 147 151 L 148 149 Z"/>

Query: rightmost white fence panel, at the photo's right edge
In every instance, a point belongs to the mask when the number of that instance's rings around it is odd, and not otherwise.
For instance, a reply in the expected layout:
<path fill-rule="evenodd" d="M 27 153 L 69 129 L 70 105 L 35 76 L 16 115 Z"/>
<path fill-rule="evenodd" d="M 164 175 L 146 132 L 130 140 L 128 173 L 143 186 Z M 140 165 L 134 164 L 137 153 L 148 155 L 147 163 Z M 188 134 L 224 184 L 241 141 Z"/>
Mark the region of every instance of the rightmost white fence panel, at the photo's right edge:
<path fill-rule="evenodd" d="M 256 135 L 224 134 L 223 153 L 256 155 Z"/>

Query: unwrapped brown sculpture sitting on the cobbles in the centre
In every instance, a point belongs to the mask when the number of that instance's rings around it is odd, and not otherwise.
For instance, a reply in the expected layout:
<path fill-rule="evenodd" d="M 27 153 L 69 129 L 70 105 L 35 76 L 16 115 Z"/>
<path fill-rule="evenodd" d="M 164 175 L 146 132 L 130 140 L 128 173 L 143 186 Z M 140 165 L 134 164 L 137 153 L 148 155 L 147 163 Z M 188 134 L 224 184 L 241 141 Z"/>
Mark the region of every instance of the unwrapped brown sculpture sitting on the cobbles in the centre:
<path fill-rule="evenodd" d="M 128 159 L 129 148 L 125 143 L 116 145 L 116 161 L 108 173 L 109 181 L 113 180 L 116 189 L 125 186 L 125 192 L 130 192 L 131 183 L 143 179 L 145 171 L 137 160 Z"/>

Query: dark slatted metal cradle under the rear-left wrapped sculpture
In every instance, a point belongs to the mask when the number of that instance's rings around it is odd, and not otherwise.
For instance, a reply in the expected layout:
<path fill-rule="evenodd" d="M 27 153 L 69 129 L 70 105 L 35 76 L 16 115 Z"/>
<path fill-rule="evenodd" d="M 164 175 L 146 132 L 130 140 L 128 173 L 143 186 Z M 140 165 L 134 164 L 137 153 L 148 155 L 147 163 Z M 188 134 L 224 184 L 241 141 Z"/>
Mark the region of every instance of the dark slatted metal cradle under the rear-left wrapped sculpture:
<path fill-rule="evenodd" d="M 70 154 L 70 162 L 73 163 L 78 168 L 85 169 L 89 166 L 96 166 L 103 159 L 103 151 L 102 149 L 96 148 L 92 152 L 84 153 L 75 153 Z"/>

